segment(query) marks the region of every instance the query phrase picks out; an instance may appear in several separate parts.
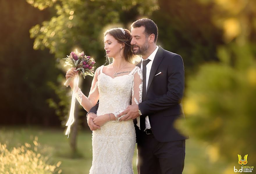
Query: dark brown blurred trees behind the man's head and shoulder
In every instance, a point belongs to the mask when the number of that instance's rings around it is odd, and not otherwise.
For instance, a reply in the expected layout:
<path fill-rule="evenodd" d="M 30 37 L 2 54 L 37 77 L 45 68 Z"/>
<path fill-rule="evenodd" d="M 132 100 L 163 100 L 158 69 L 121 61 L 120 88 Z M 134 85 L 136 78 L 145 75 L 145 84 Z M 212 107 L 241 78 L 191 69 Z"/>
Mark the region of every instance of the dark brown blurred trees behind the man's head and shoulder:
<path fill-rule="evenodd" d="M 186 76 L 202 63 L 219 61 L 216 50 L 223 44 L 223 31 L 211 20 L 212 3 L 159 0 L 159 8 L 151 16 L 159 28 L 158 44 L 182 56 Z"/>

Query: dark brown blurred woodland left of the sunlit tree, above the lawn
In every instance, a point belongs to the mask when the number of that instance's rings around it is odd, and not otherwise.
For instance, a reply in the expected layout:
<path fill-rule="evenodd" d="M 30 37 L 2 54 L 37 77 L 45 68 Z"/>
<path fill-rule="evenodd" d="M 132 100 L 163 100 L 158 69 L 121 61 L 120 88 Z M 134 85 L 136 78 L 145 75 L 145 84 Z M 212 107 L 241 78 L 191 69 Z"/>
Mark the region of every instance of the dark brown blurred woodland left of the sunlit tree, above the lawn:
<path fill-rule="evenodd" d="M 0 6 L 0 124 L 56 125 L 58 118 L 51 117 L 54 110 L 46 103 L 54 95 L 47 81 L 55 81 L 60 70 L 49 50 L 33 50 L 29 38 L 31 26 L 48 20 L 51 11 L 39 11 L 24 0 L 0 1 Z"/>

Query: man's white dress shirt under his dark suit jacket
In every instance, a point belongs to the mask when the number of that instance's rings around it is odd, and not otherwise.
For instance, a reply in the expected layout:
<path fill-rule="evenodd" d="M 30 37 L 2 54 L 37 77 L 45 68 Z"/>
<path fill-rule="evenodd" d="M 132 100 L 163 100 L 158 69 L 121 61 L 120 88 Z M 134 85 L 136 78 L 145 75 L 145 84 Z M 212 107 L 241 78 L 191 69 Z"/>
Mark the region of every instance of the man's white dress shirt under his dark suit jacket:
<path fill-rule="evenodd" d="M 146 83 L 146 90 L 147 90 L 147 84 L 148 84 L 148 79 L 149 79 L 149 75 L 150 75 L 150 70 L 151 70 L 151 67 L 152 67 L 152 64 L 153 64 L 153 61 L 154 61 L 154 58 L 155 58 L 155 56 L 156 56 L 156 54 L 157 54 L 157 50 L 158 50 L 158 46 L 157 46 L 157 48 L 152 52 L 152 54 L 147 58 L 147 59 L 150 59 L 151 61 L 146 65 L 146 68 L 147 68 L 147 72 L 146 72 L 146 79 L 143 79 L 143 83 Z M 147 60 L 147 59 L 145 59 L 145 60 Z M 141 58 L 141 60 L 142 60 L 142 62 L 141 62 L 141 70 L 143 69 L 143 66 L 142 66 L 142 63 L 143 63 L 143 58 Z M 146 93 L 147 91 L 142 91 L 143 93 Z M 148 118 L 148 116 L 146 116 L 146 118 L 145 118 L 145 123 L 146 123 L 146 128 L 145 128 L 145 130 L 146 129 L 150 129 L 151 128 L 151 126 L 150 126 L 150 122 L 149 122 L 149 118 Z M 140 117 L 137 117 L 137 124 L 136 124 L 138 127 L 139 127 L 139 129 L 141 129 L 140 128 Z M 144 130 L 144 131 L 145 131 Z"/>

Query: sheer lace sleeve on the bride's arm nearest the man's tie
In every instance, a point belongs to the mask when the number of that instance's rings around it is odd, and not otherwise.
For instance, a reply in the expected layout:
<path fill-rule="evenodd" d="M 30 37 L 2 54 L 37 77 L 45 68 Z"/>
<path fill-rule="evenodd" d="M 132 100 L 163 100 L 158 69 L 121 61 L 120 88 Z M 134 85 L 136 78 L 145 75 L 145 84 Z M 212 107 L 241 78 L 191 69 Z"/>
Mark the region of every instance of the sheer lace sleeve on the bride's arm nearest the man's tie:
<path fill-rule="evenodd" d="M 131 94 L 131 104 L 139 104 L 142 102 L 142 83 L 143 83 L 143 75 L 141 69 L 138 67 L 136 70 L 133 72 L 134 80 L 132 84 L 132 94 Z M 115 117 L 123 112 L 124 110 L 120 110 L 118 112 L 114 112 L 113 114 Z M 115 119 L 114 122 L 118 122 L 122 117 L 125 115 L 122 115 L 121 117 Z"/>

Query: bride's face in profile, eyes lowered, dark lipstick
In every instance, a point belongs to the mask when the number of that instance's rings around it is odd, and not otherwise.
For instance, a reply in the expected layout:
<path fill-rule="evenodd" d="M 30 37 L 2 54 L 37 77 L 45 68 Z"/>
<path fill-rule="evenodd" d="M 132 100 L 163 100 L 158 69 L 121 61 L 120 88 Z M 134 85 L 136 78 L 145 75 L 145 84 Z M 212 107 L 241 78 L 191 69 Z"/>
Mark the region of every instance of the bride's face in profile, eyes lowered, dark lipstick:
<path fill-rule="evenodd" d="M 118 41 L 111 35 L 107 34 L 104 37 L 104 49 L 108 57 L 120 57 L 120 50 L 122 44 L 118 43 Z"/>

